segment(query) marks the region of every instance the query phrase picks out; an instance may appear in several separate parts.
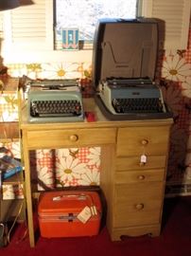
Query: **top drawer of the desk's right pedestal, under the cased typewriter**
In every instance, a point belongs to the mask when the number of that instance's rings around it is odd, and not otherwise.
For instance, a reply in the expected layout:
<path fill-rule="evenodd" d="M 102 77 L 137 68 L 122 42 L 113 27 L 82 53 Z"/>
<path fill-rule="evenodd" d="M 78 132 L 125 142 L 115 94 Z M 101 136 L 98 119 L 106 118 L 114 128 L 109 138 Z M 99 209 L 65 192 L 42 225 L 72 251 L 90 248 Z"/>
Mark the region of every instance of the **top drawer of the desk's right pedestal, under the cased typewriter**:
<path fill-rule="evenodd" d="M 168 127 L 120 128 L 117 136 L 117 155 L 165 155 Z"/>

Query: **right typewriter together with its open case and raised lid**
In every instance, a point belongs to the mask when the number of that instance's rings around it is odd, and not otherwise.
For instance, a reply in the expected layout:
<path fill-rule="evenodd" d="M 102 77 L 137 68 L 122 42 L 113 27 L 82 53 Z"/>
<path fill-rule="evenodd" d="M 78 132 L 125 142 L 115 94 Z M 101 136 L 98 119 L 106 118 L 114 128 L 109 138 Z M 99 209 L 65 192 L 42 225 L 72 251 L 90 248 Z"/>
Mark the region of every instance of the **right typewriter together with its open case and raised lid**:
<path fill-rule="evenodd" d="M 108 119 L 172 117 L 163 101 L 160 87 L 154 82 L 157 51 L 156 20 L 98 21 L 93 51 L 93 83 L 96 102 Z M 113 102 L 116 100 L 115 107 Z M 130 105 L 131 110 L 126 105 L 123 108 L 125 113 L 120 113 L 120 109 L 117 112 L 118 100 L 128 100 L 126 104 Z"/>

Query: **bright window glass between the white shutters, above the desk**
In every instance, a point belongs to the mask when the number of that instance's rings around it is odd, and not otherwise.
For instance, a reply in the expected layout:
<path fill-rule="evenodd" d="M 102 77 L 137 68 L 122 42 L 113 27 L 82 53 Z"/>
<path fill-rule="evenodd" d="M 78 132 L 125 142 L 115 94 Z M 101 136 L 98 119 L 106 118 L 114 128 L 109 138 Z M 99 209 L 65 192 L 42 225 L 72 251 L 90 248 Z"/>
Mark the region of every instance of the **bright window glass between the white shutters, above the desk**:
<path fill-rule="evenodd" d="M 57 0 L 57 29 L 78 28 L 79 40 L 93 40 L 99 18 L 136 16 L 136 0 Z"/>

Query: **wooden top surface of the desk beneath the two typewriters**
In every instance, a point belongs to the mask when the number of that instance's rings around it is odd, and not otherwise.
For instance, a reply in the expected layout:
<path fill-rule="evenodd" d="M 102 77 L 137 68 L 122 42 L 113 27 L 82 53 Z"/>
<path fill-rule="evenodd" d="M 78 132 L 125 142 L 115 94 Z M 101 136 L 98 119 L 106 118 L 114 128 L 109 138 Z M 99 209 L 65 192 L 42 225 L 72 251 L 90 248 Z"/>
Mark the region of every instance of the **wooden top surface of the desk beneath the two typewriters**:
<path fill-rule="evenodd" d="M 172 119 L 140 119 L 140 120 L 109 120 L 106 119 L 99 110 L 93 98 L 84 99 L 84 112 L 93 112 L 96 121 L 88 121 L 86 118 L 78 122 L 46 122 L 46 123 L 31 123 L 27 121 L 26 106 L 22 110 L 21 115 L 21 129 L 22 130 L 55 130 L 61 128 L 98 128 L 98 127 L 127 127 L 127 126 L 154 126 L 156 125 L 170 125 Z"/>

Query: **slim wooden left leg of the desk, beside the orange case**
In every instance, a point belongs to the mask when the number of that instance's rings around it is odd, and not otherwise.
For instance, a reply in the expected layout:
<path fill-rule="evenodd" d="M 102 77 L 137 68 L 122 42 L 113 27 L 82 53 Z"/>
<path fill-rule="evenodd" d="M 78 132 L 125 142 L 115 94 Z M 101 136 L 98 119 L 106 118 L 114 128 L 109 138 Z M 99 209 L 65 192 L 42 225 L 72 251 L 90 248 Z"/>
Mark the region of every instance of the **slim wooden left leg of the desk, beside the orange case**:
<path fill-rule="evenodd" d="M 26 141 L 25 135 L 23 135 L 23 153 L 24 153 L 25 177 L 26 177 L 25 184 L 26 184 L 27 228 L 28 228 L 30 247 L 34 247 L 35 239 L 34 239 L 32 194 L 31 194 L 31 182 L 30 182 L 29 151 L 27 149 L 27 141 Z"/>

